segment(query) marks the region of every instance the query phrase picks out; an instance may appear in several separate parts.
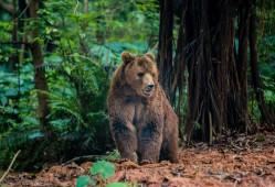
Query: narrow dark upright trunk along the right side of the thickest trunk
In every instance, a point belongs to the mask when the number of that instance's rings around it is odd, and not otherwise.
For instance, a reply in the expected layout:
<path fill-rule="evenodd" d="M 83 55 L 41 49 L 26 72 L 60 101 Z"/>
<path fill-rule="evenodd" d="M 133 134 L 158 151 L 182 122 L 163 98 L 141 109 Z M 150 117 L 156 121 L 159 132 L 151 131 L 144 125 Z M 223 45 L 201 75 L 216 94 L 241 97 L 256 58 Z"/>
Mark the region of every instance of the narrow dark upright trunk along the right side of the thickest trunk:
<path fill-rule="evenodd" d="M 247 38 L 248 38 L 248 7 L 246 1 L 236 4 L 239 30 L 236 37 L 239 45 L 235 46 L 235 54 L 232 61 L 229 92 L 229 118 L 230 129 L 234 132 L 246 132 L 248 121 L 248 88 L 247 88 Z M 233 37 L 233 41 L 235 38 Z M 237 50 L 236 50 L 237 48 Z M 233 54 L 234 52 L 232 52 Z"/>

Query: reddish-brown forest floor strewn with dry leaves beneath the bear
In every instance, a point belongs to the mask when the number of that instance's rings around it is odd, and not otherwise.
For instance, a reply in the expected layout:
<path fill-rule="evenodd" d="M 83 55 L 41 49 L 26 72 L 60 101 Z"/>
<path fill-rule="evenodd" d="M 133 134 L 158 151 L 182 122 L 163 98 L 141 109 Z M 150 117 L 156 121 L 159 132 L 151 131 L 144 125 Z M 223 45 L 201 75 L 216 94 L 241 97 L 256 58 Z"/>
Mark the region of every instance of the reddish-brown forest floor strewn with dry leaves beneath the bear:
<path fill-rule="evenodd" d="M 180 163 L 161 162 L 137 165 L 113 161 L 114 175 L 103 180 L 127 183 L 141 187 L 181 186 L 255 186 L 275 187 L 275 133 L 239 135 L 224 145 L 197 143 L 181 148 Z M 4 187 L 10 186 L 75 186 L 81 175 L 89 175 L 92 162 L 52 166 L 39 174 L 9 173 Z M 89 175 L 91 176 L 91 175 Z M 91 176 L 99 183 L 98 176 Z"/>

